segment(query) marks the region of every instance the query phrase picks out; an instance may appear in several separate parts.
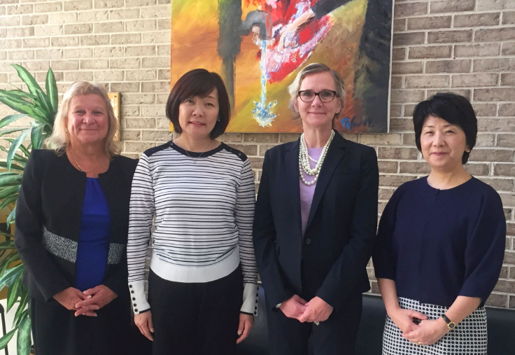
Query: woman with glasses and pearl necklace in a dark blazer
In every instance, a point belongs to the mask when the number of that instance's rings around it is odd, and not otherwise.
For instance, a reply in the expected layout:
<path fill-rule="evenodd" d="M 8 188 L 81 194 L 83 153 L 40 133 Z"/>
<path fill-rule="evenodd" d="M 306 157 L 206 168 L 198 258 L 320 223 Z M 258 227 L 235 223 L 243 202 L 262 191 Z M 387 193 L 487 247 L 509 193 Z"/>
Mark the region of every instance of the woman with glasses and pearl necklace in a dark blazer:
<path fill-rule="evenodd" d="M 290 85 L 297 141 L 269 149 L 254 218 L 273 355 L 353 354 L 377 223 L 373 148 L 332 130 L 344 83 L 310 64 Z"/>

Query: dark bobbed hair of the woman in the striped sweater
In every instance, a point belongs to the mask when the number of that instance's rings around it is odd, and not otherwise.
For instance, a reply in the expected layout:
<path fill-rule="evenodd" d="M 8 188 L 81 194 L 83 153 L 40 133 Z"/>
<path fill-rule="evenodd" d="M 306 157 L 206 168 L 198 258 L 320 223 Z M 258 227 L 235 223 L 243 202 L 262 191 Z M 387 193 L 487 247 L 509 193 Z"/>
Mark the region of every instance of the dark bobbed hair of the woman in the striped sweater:
<path fill-rule="evenodd" d="M 215 127 L 209 133 L 211 139 L 215 139 L 225 132 L 231 118 L 231 106 L 229 95 L 222 78 L 216 73 L 206 69 L 193 69 L 179 78 L 174 88 L 171 88 L 167 101 L 167 117 L 174 125 L 175 132 L 181 134 L 183 130 L 179 125 L 179 105 L 188 97 L 206 97 L 213 90 L 218 91 L 218 120 Z"/>

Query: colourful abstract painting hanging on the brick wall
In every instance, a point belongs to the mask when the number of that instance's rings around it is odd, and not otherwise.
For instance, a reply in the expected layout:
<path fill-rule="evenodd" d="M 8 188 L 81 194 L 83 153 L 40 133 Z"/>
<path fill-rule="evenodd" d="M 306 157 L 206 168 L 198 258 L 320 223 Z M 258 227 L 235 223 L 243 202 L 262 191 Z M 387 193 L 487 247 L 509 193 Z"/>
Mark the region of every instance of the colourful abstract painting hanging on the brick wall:
<path fill-rule="evenodd" d="M 227 132 L 301 132 L 288 85 L 321 62 L 344 78 L 345 132 L 387 132 L 393 0 L 173 0 L 171 85 L 186 71 L 220 74 Z"/>

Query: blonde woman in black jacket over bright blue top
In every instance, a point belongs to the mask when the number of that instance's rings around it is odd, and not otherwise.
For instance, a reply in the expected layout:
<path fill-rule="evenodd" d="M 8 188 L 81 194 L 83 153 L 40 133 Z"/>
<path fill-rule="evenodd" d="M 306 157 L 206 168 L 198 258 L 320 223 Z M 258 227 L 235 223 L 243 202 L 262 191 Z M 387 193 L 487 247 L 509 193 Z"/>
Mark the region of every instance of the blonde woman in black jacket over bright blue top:
<path fill-rule="evenodd" d="M 129 195 L 137 161 L 119 155 L 101 85 L 73 83 L 50 150 L 34 150 L 16 207 L 16 248 L 38 355 L 136 354 L 127 287 Z"/>

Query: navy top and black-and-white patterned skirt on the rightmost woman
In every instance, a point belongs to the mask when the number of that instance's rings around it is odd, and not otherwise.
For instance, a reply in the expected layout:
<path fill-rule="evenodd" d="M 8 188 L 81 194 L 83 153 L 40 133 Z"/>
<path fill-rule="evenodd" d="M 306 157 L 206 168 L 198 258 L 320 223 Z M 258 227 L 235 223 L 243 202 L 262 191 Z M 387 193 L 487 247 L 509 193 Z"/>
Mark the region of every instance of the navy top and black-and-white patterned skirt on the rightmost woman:
<path fill-rule="evenodd" d="M 474 177 L 448 190 L 432 188 L 427 177 L 397 188 L 379 223 L 376 277 L 394 280 L 400 307 L 428 319 L 438 319 L 460 295 L 481 298 L 481 305 L 424 347 L 401 337 L 387 316 L 383 355 L 486 354 L 483 305 L 498 281 L 505 240 L 501 199 Z"/>

